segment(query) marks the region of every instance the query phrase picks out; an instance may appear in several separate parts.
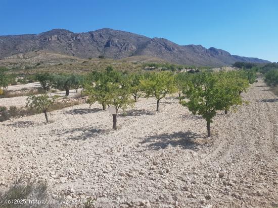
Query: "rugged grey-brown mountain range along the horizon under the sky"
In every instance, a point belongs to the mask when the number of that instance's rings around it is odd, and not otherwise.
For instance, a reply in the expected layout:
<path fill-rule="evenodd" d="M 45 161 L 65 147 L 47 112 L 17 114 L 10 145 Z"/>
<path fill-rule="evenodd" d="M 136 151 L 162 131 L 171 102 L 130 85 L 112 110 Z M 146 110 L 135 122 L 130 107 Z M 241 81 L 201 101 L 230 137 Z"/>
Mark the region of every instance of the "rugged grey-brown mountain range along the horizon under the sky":
<path fill-rule="evenodd" d="M 0 36 L 0 59 L 34 50 L 80 58 L 104 56 L 121 59 L 148 56 L 172 63 L 205 66 L 231 65 L 236 61 L 269 62 L 259 58 L 231 55 L 214 47 L 207 49 L 202 45 L 178 45 L 164 38 L 149 38 L 106 28 L 84 33 L 53 29 L 40 34 Z"/>

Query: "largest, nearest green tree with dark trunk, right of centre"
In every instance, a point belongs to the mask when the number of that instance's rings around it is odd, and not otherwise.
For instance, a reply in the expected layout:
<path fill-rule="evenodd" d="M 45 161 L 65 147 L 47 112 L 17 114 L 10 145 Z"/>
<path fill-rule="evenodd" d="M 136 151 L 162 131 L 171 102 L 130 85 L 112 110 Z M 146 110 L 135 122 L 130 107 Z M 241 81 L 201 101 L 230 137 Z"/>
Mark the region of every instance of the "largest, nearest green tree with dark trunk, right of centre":
<path fill-rule="evenodd" d="M 194 75 L 195 76 L 195 75 Z M 240 104 L 239 89 L 231 80 L 223 80 L 217 73 L 200 73 L 197 79 L 188 82 L 183 90 L 185 98 L 180 104 L 195 115 L 201 115 L 207 122 L 207 136 L 211 136 L 210 124 L 217 110 L 225 110 L 232 104 Z M 221 77 L 221 79 L 219 79 Z"/>

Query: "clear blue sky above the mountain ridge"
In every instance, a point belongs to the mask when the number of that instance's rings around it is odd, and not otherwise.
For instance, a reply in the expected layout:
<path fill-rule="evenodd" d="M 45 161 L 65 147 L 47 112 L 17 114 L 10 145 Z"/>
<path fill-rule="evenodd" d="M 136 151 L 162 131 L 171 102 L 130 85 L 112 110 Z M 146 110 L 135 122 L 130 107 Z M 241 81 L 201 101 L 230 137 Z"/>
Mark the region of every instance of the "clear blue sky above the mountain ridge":
<path fill-rule="evenodd" d="M 112 28 L 278 61 L 276 0 L 0 0 L 0 35 Z"/>

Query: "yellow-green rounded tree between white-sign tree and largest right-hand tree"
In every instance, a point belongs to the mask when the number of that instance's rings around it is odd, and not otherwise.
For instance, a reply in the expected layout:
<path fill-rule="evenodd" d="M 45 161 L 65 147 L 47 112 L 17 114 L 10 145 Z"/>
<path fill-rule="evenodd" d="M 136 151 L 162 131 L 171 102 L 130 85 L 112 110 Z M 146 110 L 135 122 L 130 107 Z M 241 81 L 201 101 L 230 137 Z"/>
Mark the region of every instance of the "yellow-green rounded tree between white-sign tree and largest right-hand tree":
<path fill-rule="evenodd" d="M 141 81 L 141 85 L 147 98 L 156 98 L 156 111 L 159 111 L 159 101 L 162 98 L 176 92 L 173 74 L 167 71 L 149 73 L 146 79 Z"/>

